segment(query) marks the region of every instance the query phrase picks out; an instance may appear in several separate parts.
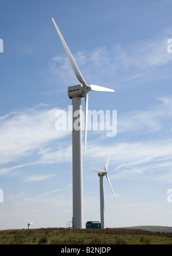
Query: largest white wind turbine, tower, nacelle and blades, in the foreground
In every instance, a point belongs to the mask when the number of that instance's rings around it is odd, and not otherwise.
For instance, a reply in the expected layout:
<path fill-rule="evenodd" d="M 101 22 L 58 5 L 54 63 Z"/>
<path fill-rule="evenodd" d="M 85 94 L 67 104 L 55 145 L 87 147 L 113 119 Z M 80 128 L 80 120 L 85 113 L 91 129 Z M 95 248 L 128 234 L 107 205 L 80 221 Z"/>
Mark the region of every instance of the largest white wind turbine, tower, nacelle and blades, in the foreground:
<path fill-rule="evenodd" d="M 71 62 L 73 71 L 75 72 L 77 80 L 81 84 L 68 87 L 68 96 L 72 99 L 73 106 L 73 131 L 72 131 L 72 161 L 73 161 L 73 228 L 83 228 L 83 152 L 82 152 L 82 116 L 81 116 L 81 97 L 85 97 L 85 141 L 84 141 L 84 156 L 87 145 L 87 123 L 88 123 L 88 92 L 115 92 L 113 89 L 104 88 L 97 85 L 87 85 L 82 76 L 79 67 L 76 65 L 75 59 L 56 22 L 52 18 L 57 33 L 60 36 L 61 42 L 67 52 L 69 61 Z M 79 129 L 75 129 L 75 123 L 80 124 Z M 78 126 L 77 126 L 78 128 Z"/>

